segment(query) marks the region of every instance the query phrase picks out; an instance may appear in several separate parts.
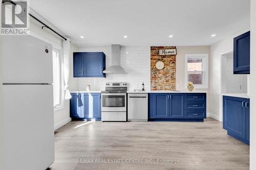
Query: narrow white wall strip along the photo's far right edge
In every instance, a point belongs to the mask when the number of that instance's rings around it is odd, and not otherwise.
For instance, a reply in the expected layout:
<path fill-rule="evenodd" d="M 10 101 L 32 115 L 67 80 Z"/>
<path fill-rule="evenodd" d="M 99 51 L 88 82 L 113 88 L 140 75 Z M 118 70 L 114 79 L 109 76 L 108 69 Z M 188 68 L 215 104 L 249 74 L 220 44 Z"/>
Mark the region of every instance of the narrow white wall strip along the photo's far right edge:
<path fill-rule="evenodd" d="M 256 169 L 256 0 L 251 0 L 250 25 L 250 169 Z"/>

